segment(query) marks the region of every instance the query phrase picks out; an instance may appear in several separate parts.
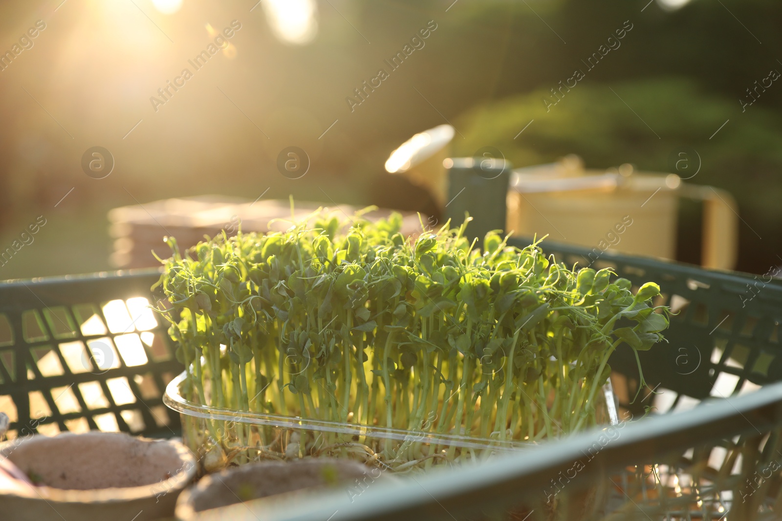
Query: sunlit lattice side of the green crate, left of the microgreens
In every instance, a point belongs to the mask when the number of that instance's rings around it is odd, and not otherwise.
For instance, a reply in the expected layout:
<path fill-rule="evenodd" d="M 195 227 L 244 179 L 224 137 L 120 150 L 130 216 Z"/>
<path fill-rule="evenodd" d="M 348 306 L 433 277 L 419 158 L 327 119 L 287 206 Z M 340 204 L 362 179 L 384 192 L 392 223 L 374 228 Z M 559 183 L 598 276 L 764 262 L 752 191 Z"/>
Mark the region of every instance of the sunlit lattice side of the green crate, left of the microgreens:
<path fill-rule="evenodd" d="M 163 405 L 183 366 L 146 305 L 156 269 L 0 284 L 0 411 L 9 438 L 72 430 L 180 432 Z"/>

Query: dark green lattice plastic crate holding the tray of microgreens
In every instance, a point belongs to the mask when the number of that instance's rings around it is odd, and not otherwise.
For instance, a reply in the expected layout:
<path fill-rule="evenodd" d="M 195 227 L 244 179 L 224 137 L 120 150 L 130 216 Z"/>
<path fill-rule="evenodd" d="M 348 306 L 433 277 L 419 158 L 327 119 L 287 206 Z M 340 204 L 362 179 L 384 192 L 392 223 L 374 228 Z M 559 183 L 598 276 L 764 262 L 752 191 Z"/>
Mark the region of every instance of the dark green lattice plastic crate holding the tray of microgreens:
<path fill-rule="evenodd" d="M 524 244 L 521 239 L 514 242 Z M 586 248 L 547 241 L 543 248 L 563 262 L 578 261 L 582 265 L 590 262 L 590 251 Z M 638 391 L 638 375 L 632 353 L 620 347 L 610 361 L 615 371 L 615 389 L 626 411 L 637 418 L 645 405 L 655 405 L 653 417 L 626 426 L 616 441 L 600 444 L 594 461 L 590 459 L 590 466 L 579 473 L 579 479 L 569 482 L 557 494 L 558 501 L 576 498 L 582 484 L 597 482 L 612 490 L 612 500 L 602 512 L 608 519 L 721 519 L 732 507 L 734 515 L 730 519 L 780 519 L 780 471 L 774 469 L 768 477 L 766 473 L 776 462 L 782 463 L 779 407 L 782 387 L 772 385 L 741 398 L 726 397 L 782 380 L 778 337 L 782 287 L 773 283 L 756 284 L 755 279 L 741 274 L 609 253 L 601 255 L 594 265 L 614 266 L 619 276 L 629 278 L 633 284 L 657 281 L 663 292 L 661 303 L 672 305 L 678 314 L 673 316 L 665 334 L 669 343 L 658 344 L 642 354 L 649 387 L 640 390 L 633 404 L 630 400 Z M 115 345 L 117 337 L 124 334 L 139 334 L 140 338 L 144 330 L 112 329 L 111 319 L 106 318 L 103 310 L 107 303 L 117 300 L 152 299 L 149 287 L 157 277 L 156 271 L 146 271 L 0 284 L 0 332 L 3 327 L 13 331 L 13 339 L 0 344 L 0 396 L 11 397 L 16 407 L 18 420 L 13 423 L 13 430 L 20 430 L 21 434 L 54 430 L 49 425 L 66 430 L 74 425 L 71 420 L 81 419 L 95 428 L 101 426 L 97 418 L 105 418 L 102 415 L 106 414 L 116 419 L 120 430 L 138 434 L 170 436 L 178 429 L 178 415 L 173 411 L 164 412 L 163 420 L 167 418 L 167 424 L 157 423 L 155 419 L 154 410 L 160 411 L 156 408 L 162 407 L 163 384 L 182 369 L 173 358 L 166 327 L 160 320 L 148 330 L 160 344 L 152 342 L 152 346 L 144 346 L 149 362 L 143 366 L 128 365 L 117 356 L 118 367 L 101 369 L 84 348 L 93 370 L 74 371 L 66 367 L 63 352 L 69 348 L 67 345 L 63 348 L 63 344 L 71 342 L 108 338 Z M 84 323 L 93 315 L 78 312 L 79 305 L 97 309 L 94 315 L 104 326 L 109 326 L 109 333 L 84 334 Z M 36 333 L 32 323 L 40 323 L 38 337 L 32 334 Z M 68 323 L 78 323 L 80 328 L 69 329 Z M 157 351 L 160 346 L 164 352 Z M 61 374 L 41 373 L 38 362 L 41 353 L 48 352 L 55 353 L 63 367 Z M 156 395 L 144 396 L 136 376 L 143 381 L 150 375 L 156 383 Z M 108 382 L 121 377 L 127 379 L 127 387 L 136 398 L 132 403 L 113 400 Z M 90 382 L 102 390 L 107 405 L 88 408 L 79 389 L 81 384 Z M 56 406 L 61 399 L 56 392 L 69 386 L 77 387 L 74 394 L 81 407 L 79 411 L 66 412 Z M 657 394 L 652 394 L 652 390 Z M 41 393 L 52 409 L 51 415 L 38 415 L 40 421 L 30 419 L 36 417 L 35 411 L 30 414 L 30 401 L 36 392 Z M 712 398 L 709 402 L 722 403 L 696 406 L 707 398 Z M 680 415 L 656 416 L 687 407 L 694 409 Z M 125 420 L 131 413 L 123 416 L 126 411 L 138 412 L 144 426 L 138 430 L 131 428 Z M 600 436 L 604 434 L 585 434 L 545 444 L 524 459 L 513 459 L 512 469 L 508 468 L 510 460 L 489 465 L 487 468 L 500 473 L 499 478 L 491 481 L 493 487 L 489 489 L 481 476 L 490 471 L 454 471 L 448 476 L 432 476 L 432 488 L 425 495 L 404 495 L 402 489 L 398 494 L 389 491 L 389 500 L 382 503 L 386 510 L 378 504 L 371 509 L 355 509 L 350 516 L 353 519 L 400 519 L 399 516 L 475 519 L 475 512 L 497 511 L 513 501 L 525 505 L 537 501 L 534 512 L 529 512 L 529 520 L 549 519 L 543 500 L 545 491 L 551 491 L 551 480 L 572 469 L 577 460 L 573 457 L 578 454 L 576 450 L 588 457 L 590 447 L 595 447 Z M 421 484 L 429 484 L 429 479 L 422 477 Z M 519 488 L 522 484 L 526 488 Z M 472 501 L 469 508 L 465 506 L 465 498 Z M 745 501 L 740 502 L 741 499 Z M 577 510 L 577 501 L 571 501 L 570 505 L 571 511 Z M 420 514 L 411 515 L 413 507 Z M 327 512 L 324 519 L 333 512 Z M 558 512 L 568 512 L 568 509 Z M 497 513 L 497 519 L 499 516 Z"/>

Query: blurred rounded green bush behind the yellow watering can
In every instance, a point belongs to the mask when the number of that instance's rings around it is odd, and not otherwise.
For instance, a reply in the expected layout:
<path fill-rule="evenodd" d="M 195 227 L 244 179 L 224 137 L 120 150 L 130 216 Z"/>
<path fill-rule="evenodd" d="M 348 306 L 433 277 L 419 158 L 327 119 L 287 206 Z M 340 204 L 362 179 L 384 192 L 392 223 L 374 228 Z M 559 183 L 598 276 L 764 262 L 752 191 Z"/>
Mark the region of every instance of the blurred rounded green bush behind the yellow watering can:
<path fill-rule="evenodd" d="M 577 84 L 548 109 L 543 98 L 553 96 L 539 89 L 469 110 L 457 120 L 465 139 L 454 141 L 456 153 L 492 145 L 526 166 L 572 152 L 592 168 L 630 162 L 668 172 L 670 153 L 687 145 L 703 162 L 690 182 L 726 187 L 741 202 L 769 203 L 768 211 L 782 216 L 773 204 L 782 191 L 782 120 L 775 110 L 757 106 L 737 116 L 730 100 L 685 78 Z"/>

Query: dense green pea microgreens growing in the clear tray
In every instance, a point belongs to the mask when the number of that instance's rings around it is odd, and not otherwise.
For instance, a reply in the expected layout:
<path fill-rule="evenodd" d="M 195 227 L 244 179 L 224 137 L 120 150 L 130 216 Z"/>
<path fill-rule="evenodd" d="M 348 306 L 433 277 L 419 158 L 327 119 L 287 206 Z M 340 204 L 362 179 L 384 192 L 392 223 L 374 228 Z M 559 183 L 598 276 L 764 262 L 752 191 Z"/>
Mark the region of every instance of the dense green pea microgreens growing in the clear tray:
<path fill-rule="evenodd" d="M 174 253 L 159 284 L 170 307 L 160 312 L 187 367 L 186 398 L 236 411 L 536 441 L 600 422 L 608 357 L 622 342 L 651 348 L 668 326 L 668 309 L 651 304 L 657 284 L 633 295 L 630 280 L 611 282 L 609 269 L 547 259 L 540 241 L 514 248 L 492 232 L 479 249 L 464 237 L 465 221 L 411 242 L 398 214 L 351 220 L 347 227 L 317 212 L 310 227 L 223 234 L 185 256 L 167 237 Z M 229 457 L 347 450 L 336 434 L 326 433 L 324 443 L 296 432 L 283 447 L 257 427 L 204 425 L 208 432 L 190 436 Z M 362 446 L 356 451 L 373 461 L 404 468 L 457 456 L 423 434 Z"/>

